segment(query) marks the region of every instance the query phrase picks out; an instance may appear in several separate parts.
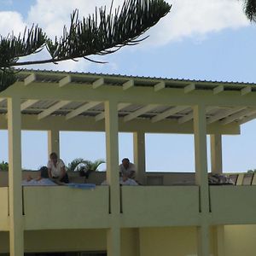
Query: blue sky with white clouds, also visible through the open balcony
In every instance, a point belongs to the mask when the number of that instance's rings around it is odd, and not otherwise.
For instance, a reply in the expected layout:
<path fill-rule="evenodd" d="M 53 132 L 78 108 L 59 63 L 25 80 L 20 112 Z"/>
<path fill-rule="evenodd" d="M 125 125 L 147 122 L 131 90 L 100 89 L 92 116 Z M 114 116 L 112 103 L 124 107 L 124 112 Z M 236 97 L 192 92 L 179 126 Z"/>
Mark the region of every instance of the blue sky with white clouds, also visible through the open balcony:
<path fill-rule="evenodd" d="M 168 2 L 173 3 L 171 13 L 148 31 L 150 38 L 142 44 L 103 58 L 94 57 L 96 60 L 107 60 L 108 64 L 71 61 L 57 67 L 41 68 L 256 83 L 256 25 L 250 24 L 244 17 L 241 2 Z M 61 0 L 0 0 L 0 33 L 20 32 L 24 26 L 35 22 L 53 36 L 54 32 L 61 33 L 63 24 L 68 24 L 73 9 L 79 8 L 80 14 L 87 15 L 93 12 L 96 5 L 109 3 L 104 0 L 74 0 L 72 3 L 62 3 Z M 115 3 L 122 1 L 116 0 Z M 255 128 L 256 121 L 251 121 L 241 126 L 240 136 L 224 136 L 224 172 L 245 172 L 256 168 Z M 132 160 L 131 134 L 121 134 L 119 139 L 119 157 L 128 156 Z M 6 131 L 0 131 L 0 142 L 0 160 L 7 160 Z M 46 132 L 22 132 L 22 166 L 37 169 L 45 165 L 46 143 Z M 148 171 L 194 172 L 192 136 L 147 135 L 146 146 Z M 88 132 L 61 132 L 61 158 L 68 163 L 76 157 L 104 159 L 104 134 L 93 133 L 91 136 Z"/>

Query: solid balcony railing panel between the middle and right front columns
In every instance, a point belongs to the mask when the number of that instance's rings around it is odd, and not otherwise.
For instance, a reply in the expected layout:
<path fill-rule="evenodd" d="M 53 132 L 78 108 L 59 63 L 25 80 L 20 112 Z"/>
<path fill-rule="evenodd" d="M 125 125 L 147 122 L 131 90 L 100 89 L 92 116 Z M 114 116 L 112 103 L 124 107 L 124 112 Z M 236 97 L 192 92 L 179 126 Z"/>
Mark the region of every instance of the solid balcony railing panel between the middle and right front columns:
<path fill-rule="evenodd" d="M 176 226 L 199 223 L 197 186 L 123 186 L 122 221 L 125 226 Z"/>

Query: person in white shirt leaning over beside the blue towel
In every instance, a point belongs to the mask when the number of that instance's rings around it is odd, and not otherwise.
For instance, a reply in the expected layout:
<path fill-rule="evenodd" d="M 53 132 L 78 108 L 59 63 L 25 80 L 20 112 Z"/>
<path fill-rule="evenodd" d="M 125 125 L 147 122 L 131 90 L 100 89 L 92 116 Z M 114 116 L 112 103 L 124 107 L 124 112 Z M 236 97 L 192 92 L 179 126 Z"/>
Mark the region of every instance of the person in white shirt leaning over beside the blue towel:
<path fill-rule="evenodd" d="M 58 158 L 58 155 L 55 152 L 49 154 L 47 167 L 49 178 L 53 178 L 57 182 L 69 183 L 65 164 L 61 159 Z"/>

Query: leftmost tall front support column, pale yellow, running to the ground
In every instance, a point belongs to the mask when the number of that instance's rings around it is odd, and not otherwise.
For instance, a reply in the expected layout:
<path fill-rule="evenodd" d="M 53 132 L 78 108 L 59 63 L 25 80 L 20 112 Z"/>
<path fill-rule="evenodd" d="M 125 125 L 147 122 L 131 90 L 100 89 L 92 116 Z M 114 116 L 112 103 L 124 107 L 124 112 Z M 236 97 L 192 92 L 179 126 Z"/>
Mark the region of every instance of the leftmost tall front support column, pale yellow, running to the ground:
<path fill-rule="evenodd" d="M 10 256 L 21 256 L 24 254 L 20 123 L 20 98 L 8 98 Z"/>

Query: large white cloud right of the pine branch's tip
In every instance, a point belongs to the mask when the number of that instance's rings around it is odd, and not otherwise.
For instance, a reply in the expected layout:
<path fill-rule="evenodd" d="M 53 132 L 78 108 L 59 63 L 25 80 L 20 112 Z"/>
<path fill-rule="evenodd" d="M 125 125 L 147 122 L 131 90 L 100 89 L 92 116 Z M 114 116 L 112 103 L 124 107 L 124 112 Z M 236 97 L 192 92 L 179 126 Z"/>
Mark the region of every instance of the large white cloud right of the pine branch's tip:
<path fill-rule="evenodd" d="M 150 32 L 150 44 L 167 44 L 183 38 L 204 38 L 209 32 L 248 26 L 242 1 L 173 0 L 172 10 Z"/>

